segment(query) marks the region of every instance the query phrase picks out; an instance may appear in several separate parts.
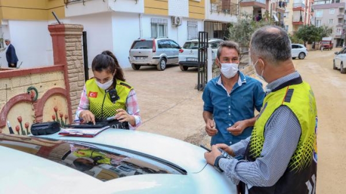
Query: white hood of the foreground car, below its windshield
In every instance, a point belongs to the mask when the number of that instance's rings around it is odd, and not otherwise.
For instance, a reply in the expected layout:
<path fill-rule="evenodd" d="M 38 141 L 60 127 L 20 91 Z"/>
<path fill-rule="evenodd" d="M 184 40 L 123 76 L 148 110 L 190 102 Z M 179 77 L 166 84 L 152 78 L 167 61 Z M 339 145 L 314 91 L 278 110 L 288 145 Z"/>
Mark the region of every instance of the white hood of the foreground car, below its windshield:
<path fill-rule="evenodd" d="M 197 177 L 198 174 L 190 176 L 149 174 L 103 182 L 57 162 L 43 160 L 12 148 L 0 146 L 0 153 L 6 156 L 6 160 L 0 162 L 1 194 L 209 194 L 215 192 L 209 191 L 209 186 L 202 184 L 205 178 L 214 177 L 213 173 L 217 173 L 215 170 L 202 173 L 200 176 L 202 179 Z M 220 184 L 216 187 L 220 189 L 219 193 L 235 191 L 235 187 L 227 182 L 226 178 L 220 178 L 220 175 L 214 178 L 219 180 L 215 182 Z"/>

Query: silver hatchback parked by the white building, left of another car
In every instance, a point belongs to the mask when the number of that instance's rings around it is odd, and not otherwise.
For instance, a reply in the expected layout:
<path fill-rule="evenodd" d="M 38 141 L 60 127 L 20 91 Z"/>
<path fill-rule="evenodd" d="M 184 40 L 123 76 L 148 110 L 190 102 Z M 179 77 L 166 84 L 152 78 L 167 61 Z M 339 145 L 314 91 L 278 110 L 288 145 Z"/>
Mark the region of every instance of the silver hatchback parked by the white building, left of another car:
<path fill-rule="evenodd" d="M 129 61 L 134 70 L 155 65 L 163 71 L 166 65 L 178 63 L 179 49 L 179 44 L 169 38 L 139 38 L 132 43 Z"/>

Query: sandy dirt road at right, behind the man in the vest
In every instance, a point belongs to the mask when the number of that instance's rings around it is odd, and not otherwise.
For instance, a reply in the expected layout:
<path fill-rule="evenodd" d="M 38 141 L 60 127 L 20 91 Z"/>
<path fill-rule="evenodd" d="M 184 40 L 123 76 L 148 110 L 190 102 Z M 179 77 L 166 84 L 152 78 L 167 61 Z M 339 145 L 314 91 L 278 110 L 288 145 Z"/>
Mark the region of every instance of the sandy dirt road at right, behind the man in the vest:
<path fill-rule="evenodd" d="M 311 51 L 306 59 L 294 60 L 316 97 L 317 194 L 346 193 L 346 74 L 332 66 L 334 52 L 338 50 Z"/>

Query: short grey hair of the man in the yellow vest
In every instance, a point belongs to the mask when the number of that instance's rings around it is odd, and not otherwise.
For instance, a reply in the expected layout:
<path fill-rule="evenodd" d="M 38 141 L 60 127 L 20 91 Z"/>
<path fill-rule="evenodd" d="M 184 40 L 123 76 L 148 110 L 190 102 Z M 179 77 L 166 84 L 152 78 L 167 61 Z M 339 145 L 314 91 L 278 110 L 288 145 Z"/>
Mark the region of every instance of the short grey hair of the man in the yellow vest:
<path fill-rule="evenodd" d="M 283 28 L 264 26 L 252 34 L 250 52 L 275 65 L 292 58 L 291 41 Z"/>

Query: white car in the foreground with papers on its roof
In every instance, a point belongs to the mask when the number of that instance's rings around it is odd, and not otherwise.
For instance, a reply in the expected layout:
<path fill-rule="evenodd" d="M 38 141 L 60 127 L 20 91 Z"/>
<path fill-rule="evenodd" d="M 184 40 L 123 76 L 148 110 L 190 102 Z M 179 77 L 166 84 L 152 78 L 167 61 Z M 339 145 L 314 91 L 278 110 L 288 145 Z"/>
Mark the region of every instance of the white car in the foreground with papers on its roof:
<path fill-rule="evenodd" d="M 93 138 L 0 133 L 1 194 L 236 194 L 204 150 L 161 135 L 106 129 Z"/>

